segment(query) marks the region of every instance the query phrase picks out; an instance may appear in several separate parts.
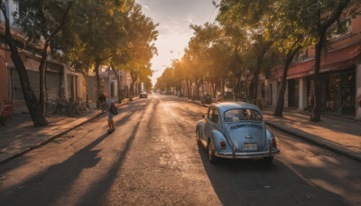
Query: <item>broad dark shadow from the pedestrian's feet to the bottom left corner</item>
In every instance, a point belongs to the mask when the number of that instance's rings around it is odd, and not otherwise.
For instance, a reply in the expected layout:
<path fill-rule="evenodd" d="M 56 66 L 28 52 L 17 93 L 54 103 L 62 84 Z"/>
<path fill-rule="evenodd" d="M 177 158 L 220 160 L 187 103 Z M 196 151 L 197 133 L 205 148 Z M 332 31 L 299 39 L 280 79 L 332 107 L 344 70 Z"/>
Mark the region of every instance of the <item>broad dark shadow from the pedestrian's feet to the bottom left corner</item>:
<path fill-rule="evenodd" d="M 68 192 L 79 173 L 94 167 L 100 160 L 100 150 L 92 150 L 108 135 L 99 136 L 61 164 L 51 165 L 47 170 L 0 193 L 0 205 L 51 205 Z"/>

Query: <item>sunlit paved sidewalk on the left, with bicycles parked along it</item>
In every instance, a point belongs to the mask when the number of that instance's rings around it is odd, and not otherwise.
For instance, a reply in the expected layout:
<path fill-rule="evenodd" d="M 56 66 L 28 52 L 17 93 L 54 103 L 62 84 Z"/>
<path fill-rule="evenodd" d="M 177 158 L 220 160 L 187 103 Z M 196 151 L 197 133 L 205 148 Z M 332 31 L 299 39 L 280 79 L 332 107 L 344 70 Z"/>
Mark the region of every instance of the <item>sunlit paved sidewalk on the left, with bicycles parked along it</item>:
<path fill-rule="evenodd" d="M 136 99 L 136 98 L 133 98 Z M 113 99 L 116 102 L 117 99 Z M 123 99 L 121 104 L 129 102 Z M 106 114 L 97 109 L 96 102 L 89 103 L 89 110 L 74 117 L 53 115 L 48 117 L 48 126 L 34 127 L 29 114 L 15 114 L 7 126 L 0 126 L 0 165 L 23 155 L 34 148 L 68 133 L 88 121 Z"/>

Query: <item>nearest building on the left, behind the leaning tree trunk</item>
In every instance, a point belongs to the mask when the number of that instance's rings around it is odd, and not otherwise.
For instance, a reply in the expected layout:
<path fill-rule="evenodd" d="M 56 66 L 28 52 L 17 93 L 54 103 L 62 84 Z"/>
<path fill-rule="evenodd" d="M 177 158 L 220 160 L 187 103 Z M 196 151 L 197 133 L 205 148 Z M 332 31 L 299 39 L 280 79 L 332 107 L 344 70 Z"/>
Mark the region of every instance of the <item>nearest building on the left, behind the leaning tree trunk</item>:
<path fill-rule="evenodd" d="M 9 16 L 12 26 L 13 39 L 18 45 L 20 56 L 27 70 L 30 84 L 34 90 L 35 96 L 39 98 L 39 66 L 41 61 L 42 41 L 39 43 L 26 44 L 26 37 L 20 33 L 21 29 L 14 26 L 13 13 L 17 11 L 17 4 L 12 0 L 4 1 L 6 13 Z M 4 15 L 0 13 L 0 33 L 5 33 Z M 25 44 L 27 45 L 25 47 Z M 11 52 L 4 38 L 0 39 L 0 103 L 5 99 L 14 100 L 14 112 L 27 111 L 26 104 L 23 99 L 23 90 L 17 70 L 14 68 L 14 62 L 11 59 Z M 47 61 L 46 75 L 46 91 L 48 98 L 63 95 L 64 75 L 66 72 L 62 64 L 56 61 Z"/>

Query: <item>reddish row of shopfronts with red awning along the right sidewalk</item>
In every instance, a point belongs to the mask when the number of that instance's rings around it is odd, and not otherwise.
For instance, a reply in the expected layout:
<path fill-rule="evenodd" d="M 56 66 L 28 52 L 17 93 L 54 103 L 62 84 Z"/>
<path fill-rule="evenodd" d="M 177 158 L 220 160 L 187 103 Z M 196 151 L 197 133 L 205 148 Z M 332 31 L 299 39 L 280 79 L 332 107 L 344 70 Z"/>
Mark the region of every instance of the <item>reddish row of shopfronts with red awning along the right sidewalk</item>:
<path fill-rule="evenodd" d="M 321 111 L 361 119 L 361 16 L 342 21 L 346 31 L 333 34 L 330 45 L 321 55 Z M 331 28 L 332 29 L 332 28 Z M 293 61 L 287 74 L 286 108 L 311 108 L 315 47 Z M 275 106 L 282 80 L 282 68 L 260 76 L 258 98 Z"/>

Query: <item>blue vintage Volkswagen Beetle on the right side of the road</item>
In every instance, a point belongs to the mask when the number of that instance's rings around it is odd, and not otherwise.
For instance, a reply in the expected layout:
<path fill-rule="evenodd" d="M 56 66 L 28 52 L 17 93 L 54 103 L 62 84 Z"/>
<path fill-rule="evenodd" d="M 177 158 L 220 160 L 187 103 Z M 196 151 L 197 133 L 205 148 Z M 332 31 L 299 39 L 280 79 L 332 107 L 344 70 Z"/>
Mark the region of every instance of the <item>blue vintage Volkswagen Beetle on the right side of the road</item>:
<path fill-rule="evenodd" d="M 244 102 L 211 104 L 207 117 L 197 123 L 196 138 L 199 145 L 207 148 L 213 164 L 219 158 L 263 158 L 270 164 L 273 156 L 280 153 L 260 109 Z"/>

